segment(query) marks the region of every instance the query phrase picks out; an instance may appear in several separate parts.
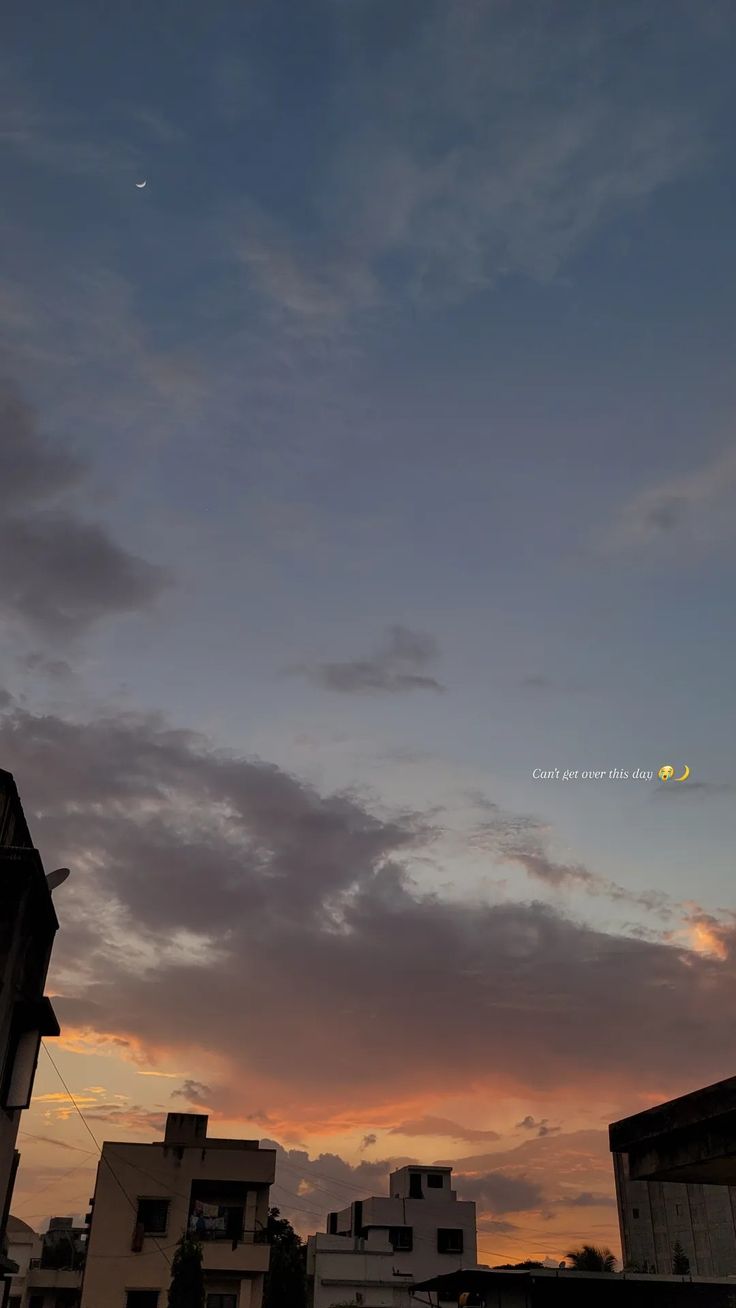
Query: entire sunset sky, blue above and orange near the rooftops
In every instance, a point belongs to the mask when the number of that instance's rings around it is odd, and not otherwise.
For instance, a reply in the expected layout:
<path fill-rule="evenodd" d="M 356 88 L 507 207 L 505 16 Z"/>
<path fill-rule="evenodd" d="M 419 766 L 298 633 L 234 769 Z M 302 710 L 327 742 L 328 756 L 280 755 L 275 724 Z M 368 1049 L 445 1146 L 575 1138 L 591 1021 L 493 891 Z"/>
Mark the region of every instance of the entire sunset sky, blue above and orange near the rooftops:
<path fill-rule="evenodd" d="M 305 1233 L 446 1162 L 481 1262 L 617 1249 L 607 1124 L 733 1073 L 735 56 L 9 0 L 0 766 L 72 869 L 18 1216 L 190 1107 Z"/>

